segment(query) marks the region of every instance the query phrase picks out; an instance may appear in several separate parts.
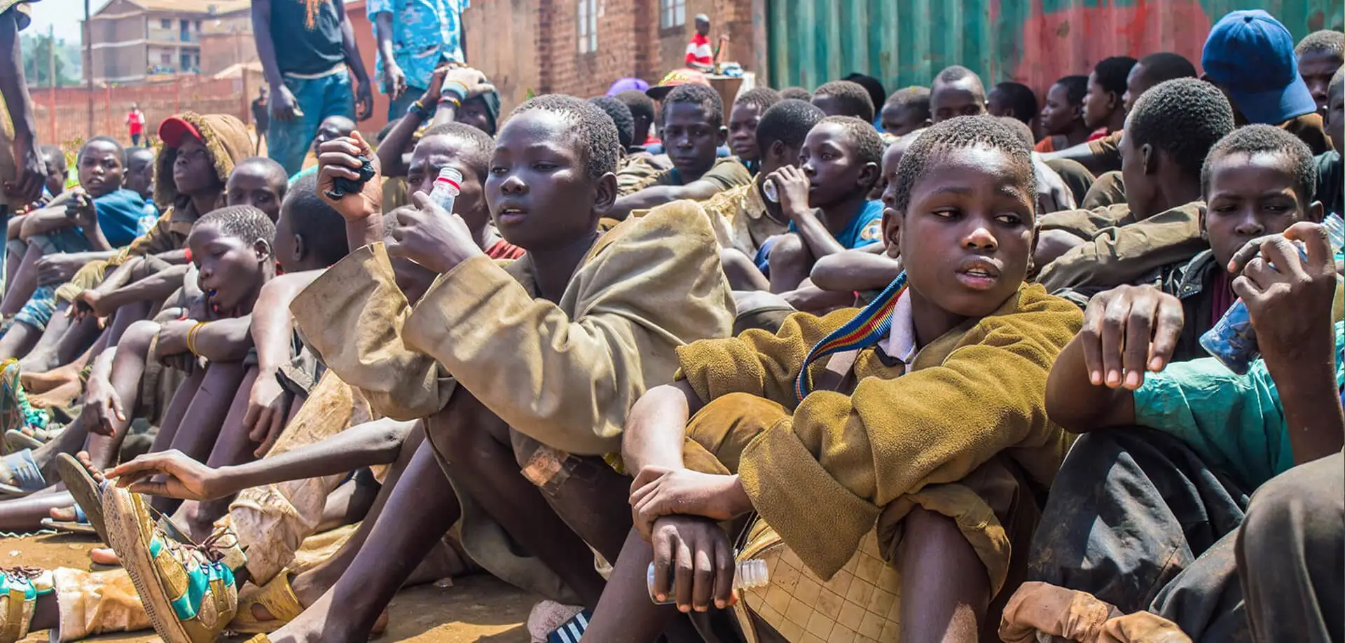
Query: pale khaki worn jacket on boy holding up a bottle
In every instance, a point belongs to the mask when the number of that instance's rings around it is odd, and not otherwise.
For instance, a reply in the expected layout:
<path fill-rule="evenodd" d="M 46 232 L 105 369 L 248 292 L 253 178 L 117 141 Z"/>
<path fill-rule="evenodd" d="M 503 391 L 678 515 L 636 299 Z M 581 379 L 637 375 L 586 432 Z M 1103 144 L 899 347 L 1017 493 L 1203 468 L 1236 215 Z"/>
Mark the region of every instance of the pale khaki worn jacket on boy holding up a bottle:
<path fill-rule="evenodd" d="M 313 281 L 291 309 L 309 344 L 397 420 L 448 404 L 455 381 L 515 430 L 576 455 L 620 451 L 631 405 L 672 379 L 677 347 L 728 336 L 733 297 L 706 217 L 690 202 L 603 235 L 560 303 L 533 262 L 487 257 L 438 277 L 412 308 L 382 243 Z"/>

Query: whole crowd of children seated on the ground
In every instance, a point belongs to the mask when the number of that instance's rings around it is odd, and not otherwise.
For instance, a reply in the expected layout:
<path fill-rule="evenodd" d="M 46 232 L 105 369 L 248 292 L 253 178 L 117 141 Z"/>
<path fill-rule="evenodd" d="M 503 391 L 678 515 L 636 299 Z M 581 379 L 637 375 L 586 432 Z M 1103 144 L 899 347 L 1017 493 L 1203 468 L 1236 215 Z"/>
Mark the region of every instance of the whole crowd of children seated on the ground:
<path fill-rule="evenodd" d="M 3 570 L 0 643 L 358 642 L 482 572 L 538 642 L 1341 642 L 1342 48 L 1235 12 L 1040 143 L 960 66 L 726 120 L 444 69 L 295 179 L 91 139 L 9 226 L 0 529 L 113 568 Z"/>

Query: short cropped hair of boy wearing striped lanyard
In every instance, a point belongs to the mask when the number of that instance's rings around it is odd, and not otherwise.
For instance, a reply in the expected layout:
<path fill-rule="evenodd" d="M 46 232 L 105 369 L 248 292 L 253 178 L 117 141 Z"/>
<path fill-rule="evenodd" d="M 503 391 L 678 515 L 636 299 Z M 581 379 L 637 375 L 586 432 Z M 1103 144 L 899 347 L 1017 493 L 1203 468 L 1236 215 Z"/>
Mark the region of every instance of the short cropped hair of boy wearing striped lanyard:
<path fill-rule="evenodd" d="M 896 192 L 893 209 L 905 213 L 911 207 L 911 192 L 916 182 L 935 168 L 936 156 L 974 147 L 998 149 L 1021 163 L 1028 176 L 1028 192 L 1036 195 L 1037 179 L 1032 171 L 1032 145 L 1018 139 L 1009 125 L 993 116 L 959 116 L 931 125 L 907 148 L 901 164 L 897 165 L 897 176 L 892 179 Z"/>

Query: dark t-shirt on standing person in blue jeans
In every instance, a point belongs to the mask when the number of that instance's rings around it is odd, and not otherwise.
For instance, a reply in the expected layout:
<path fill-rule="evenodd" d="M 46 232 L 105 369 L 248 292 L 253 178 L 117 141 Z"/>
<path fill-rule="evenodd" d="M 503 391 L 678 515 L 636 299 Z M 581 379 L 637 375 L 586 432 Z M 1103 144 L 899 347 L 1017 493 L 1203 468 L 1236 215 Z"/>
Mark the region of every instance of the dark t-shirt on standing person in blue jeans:
<path fill-rule="evenodd" d="M 270 40 L 281 74 L 321 74 L 346 61 L 338 0 L 270 0 Z"/>

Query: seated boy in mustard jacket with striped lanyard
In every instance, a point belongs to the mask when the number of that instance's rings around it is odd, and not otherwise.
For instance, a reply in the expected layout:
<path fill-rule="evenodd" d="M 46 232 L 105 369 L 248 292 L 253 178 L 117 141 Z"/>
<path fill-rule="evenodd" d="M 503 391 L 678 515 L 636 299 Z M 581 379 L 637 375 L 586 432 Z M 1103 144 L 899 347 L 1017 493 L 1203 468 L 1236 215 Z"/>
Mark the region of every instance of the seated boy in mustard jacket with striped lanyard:
<path fill-rule="evenodd" d="M 733 547 L 714 521 L 756 511 L 822 580 L 877 529 L 902 577 L 900 640 L 944 626 L 974 640 L 1013 591 L 1010 550 L 1026 546 L 1067 444 L 1045 417 L 1046 374 L 1081 317 L 1024 282 L 1034 194 L 1030 151 L 1007 126 L 935 125 L 884 195 L 905 273 L 877 300 L 678 348 L 678 381 L 636 402 L 623 443 L 650 542 L 628 541 L 589 634 L 623 609 L 624 640 L 643 640 L 675 613 L 617 605 L 644 595 L 619 581 L 651 561 L 656 599 L 730 604 Z"/>

